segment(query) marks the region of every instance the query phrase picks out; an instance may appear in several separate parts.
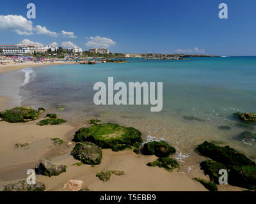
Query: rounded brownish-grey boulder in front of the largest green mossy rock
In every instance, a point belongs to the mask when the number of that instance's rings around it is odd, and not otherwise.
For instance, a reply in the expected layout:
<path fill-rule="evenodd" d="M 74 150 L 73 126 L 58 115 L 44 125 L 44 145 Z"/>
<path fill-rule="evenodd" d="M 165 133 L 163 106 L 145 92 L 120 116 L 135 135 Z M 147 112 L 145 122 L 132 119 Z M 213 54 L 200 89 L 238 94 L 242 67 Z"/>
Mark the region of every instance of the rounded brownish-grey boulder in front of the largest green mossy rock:
<path fill-rule="evenodd" d="M 102 151 L 92 142 L 79 142 L 71 152 L 71 155 L 84 164 L 100 164 Z"/>

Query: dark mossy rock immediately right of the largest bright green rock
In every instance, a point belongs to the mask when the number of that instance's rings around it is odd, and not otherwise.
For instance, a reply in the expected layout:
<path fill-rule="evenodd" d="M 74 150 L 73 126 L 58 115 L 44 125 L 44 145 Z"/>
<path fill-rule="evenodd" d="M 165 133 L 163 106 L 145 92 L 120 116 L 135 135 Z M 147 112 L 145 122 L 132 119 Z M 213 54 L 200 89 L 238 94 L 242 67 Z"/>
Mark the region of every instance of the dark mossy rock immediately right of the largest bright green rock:
<path fill-rule="evenodd" d="M 143 146 L 143 154 L 156 155 L 157 157 L 168 157 L 175 154 L 176 150 L 166 142 L 148 142 Z"/>

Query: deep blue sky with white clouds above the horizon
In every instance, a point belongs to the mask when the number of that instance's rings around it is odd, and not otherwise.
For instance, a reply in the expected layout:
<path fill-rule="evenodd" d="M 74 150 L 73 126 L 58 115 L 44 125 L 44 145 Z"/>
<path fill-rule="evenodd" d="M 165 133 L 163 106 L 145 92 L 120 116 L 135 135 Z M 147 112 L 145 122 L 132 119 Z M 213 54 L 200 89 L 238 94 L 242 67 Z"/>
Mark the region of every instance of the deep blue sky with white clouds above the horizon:
<path fill-rule="evenodd" d="M 36 19 L 25 19 L 28 3 L 36 4 Z M 218 17 L 220 3 L 228 5 L 228 19 Z M 0 44 L 26 39 L 125 53 L 256 55 L 255 0 L 19 0 L 1 1 L 0 11 Z"/>

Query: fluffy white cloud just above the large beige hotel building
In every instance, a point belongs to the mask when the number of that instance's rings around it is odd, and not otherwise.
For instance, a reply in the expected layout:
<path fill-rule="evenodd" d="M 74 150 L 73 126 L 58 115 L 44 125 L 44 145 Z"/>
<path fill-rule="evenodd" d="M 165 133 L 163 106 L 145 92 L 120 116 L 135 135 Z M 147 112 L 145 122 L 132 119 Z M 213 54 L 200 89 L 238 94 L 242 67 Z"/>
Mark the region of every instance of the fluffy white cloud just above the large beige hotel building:
<path fill-rule="evenodd" d="M 100 36 L 86 38 L 88 41 L 85 43 L 87 47 L 93 48 L 108 48 L 115 46 L 116 42 L 109 38 L 102 38 Z"/>

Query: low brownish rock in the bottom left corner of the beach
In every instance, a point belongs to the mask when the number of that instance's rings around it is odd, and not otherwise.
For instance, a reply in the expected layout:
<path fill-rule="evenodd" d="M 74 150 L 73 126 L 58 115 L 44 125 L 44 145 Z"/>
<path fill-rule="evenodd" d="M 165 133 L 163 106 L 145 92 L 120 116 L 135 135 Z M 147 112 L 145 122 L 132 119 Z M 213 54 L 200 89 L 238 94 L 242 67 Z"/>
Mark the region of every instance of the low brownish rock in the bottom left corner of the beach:
<path fill-rule="evenodd" d="M 45 184 L 36 182 L 36 184 L 29 185 L 26 180 L 21 180 L 15 184 L 8 184 L 1 187 L 0 191 L 44 191 Z"/>

